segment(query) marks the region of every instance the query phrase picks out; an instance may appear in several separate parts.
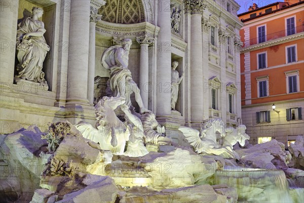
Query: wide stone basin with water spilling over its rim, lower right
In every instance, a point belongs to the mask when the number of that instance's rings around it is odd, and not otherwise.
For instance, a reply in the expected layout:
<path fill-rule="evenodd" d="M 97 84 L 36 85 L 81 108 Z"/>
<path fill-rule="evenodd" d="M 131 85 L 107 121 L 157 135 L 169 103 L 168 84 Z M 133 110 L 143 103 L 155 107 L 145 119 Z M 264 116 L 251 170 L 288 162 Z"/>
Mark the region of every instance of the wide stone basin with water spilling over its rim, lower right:
<path fill-rule="evenodd" d="M 218 170 L 215 184 L 237 190 L 238 202 L 303 202 L 303 188 L 290 188 L 282 170 L 238 168 Z"/>

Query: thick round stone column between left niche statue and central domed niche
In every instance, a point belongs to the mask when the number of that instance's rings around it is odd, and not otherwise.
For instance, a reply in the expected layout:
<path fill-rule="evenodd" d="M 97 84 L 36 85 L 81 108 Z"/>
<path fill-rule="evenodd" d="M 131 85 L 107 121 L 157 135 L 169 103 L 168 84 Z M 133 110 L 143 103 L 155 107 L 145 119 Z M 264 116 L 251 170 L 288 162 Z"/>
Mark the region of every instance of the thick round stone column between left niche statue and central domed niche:
<path fill-rule="evenodd" d="M 71 1 L 67 105 L 88 105 L 90 1 Z"/>

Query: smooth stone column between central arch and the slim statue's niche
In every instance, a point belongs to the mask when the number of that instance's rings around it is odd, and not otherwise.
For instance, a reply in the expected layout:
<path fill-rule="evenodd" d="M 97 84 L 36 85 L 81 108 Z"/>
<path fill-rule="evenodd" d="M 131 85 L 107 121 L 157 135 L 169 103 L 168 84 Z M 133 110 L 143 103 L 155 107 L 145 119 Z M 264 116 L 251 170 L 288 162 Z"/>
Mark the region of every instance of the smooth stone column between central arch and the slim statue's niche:
<path fill-rule="evenodd" d="M 158 26 L 161 28 L 157 42 L 157 118 L 165 121 L 171 117 L 171 12 L 170 0 L 158 1 Z M 161 121 L 162 122 L 162 121 Z"/>

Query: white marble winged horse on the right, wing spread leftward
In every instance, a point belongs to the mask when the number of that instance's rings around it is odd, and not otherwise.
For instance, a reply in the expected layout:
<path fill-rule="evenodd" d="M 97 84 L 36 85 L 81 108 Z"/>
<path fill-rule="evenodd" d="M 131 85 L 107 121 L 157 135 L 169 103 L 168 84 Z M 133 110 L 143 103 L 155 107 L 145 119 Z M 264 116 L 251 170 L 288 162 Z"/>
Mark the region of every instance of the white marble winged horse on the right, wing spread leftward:
<path fill-rule="evenodd" d="M 219 147 L 216 140 L 216 133 L 221 137 L 225 136 L 224 123 L 221 119 L 210 119 L 204 123 L 201 131 L 190 128 L 178 128 L 185 136 L 198 154 L 214 154 L 224 158 L 235 158 L 235 153 L 230 147 Z"/>

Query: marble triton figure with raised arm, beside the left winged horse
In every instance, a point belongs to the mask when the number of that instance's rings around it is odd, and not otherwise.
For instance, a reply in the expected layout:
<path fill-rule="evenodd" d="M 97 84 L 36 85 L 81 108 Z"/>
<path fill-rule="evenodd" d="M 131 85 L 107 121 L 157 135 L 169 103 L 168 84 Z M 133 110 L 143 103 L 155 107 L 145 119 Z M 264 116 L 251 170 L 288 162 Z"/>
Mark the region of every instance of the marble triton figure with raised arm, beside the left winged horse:
<path fill-rule="evenodd" d="M 130 138 L 128 141 L 127 151 L 124 155 L 131 157 L 144 156 L 147 153 L 147 149 L 143 145 L 145 135 L 143 133 L 143 126 L 141 120 L 131 113 L 129 107 L 125 104 L 120 106 L 121 110 L 125 113 L 126 122 L 130 125 Z"/>

